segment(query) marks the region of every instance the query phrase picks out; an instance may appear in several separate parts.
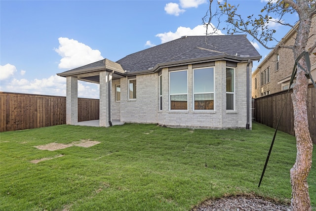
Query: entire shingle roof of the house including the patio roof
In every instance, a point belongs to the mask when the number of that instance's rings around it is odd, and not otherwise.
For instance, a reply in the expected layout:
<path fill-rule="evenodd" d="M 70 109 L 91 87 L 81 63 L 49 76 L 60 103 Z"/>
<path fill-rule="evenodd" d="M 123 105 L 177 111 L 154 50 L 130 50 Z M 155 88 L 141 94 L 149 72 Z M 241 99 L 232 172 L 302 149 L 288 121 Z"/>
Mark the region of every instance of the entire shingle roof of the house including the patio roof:
<path fill-rule="evenodd" d="M 132 53 L 117 62 L 103 59 L 57 75 L 69 76 L 105 69 L 115 70 L 120 74 L 124 74 L 124 71 L 128 71 L 127 73 L 148 72 L 166 64 L 175 65 L 213 58 L 245 61 L 259 60 L 261 56 L 245 35 L 184 36 Z"/>

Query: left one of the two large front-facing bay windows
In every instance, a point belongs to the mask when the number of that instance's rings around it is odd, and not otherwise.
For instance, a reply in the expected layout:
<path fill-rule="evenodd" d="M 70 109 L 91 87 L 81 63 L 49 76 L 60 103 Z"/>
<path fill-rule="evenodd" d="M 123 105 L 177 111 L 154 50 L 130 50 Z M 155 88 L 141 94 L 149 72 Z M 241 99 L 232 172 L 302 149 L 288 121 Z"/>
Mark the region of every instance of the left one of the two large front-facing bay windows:
<path fill-rule="evenodd" d="M 188 110 L 188 71 L 169 73 L 170 110 Z"/>

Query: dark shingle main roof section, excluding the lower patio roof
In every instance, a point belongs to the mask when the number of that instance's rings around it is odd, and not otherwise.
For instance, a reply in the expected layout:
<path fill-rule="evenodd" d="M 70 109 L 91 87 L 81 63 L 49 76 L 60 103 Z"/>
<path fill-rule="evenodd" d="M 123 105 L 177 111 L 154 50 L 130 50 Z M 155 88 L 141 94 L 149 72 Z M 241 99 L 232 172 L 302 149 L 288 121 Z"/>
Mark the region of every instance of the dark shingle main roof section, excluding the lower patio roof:
<path fill-rule="evenodd" d="M 185 36 L 127 55 L 117 63 L 125 71 L 135 72 L 149 70 L 157 64 L 225 55 L 235 56 L 236 53 L 237 59 L 240 55 L 261 58 L 245 35 Z"/>

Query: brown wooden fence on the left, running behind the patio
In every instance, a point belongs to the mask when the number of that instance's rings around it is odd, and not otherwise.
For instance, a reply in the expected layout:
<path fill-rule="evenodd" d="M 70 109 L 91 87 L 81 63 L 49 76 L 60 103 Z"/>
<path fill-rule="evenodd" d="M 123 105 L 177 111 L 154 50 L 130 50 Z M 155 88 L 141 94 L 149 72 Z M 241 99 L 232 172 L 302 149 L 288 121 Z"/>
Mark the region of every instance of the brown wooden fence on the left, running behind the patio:
<path fill-rule="evenodd" d="M 78 121 L 99 119 L 99 100 L 78 98 Z M 0 92 L 0 131 L 66 124 L 66 97 Z"/>

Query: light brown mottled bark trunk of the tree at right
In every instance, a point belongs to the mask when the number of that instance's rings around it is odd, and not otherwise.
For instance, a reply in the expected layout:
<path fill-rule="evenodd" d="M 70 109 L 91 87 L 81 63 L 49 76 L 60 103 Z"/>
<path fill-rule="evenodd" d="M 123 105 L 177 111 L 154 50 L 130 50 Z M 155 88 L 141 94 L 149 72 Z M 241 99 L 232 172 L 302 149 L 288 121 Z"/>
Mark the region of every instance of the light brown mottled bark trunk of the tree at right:
<path fill-rule="evenodd" d="M 308 80 L 304 71 L 298 70 L 296 84 L 291 95 L 297 148 L 296 162 L 290 170 L 293 211 L 312 211 L 307 184 L 307 176 L 312 167 L 313 154 L 313 142 L 307 118 L 307 84 Z"/>

